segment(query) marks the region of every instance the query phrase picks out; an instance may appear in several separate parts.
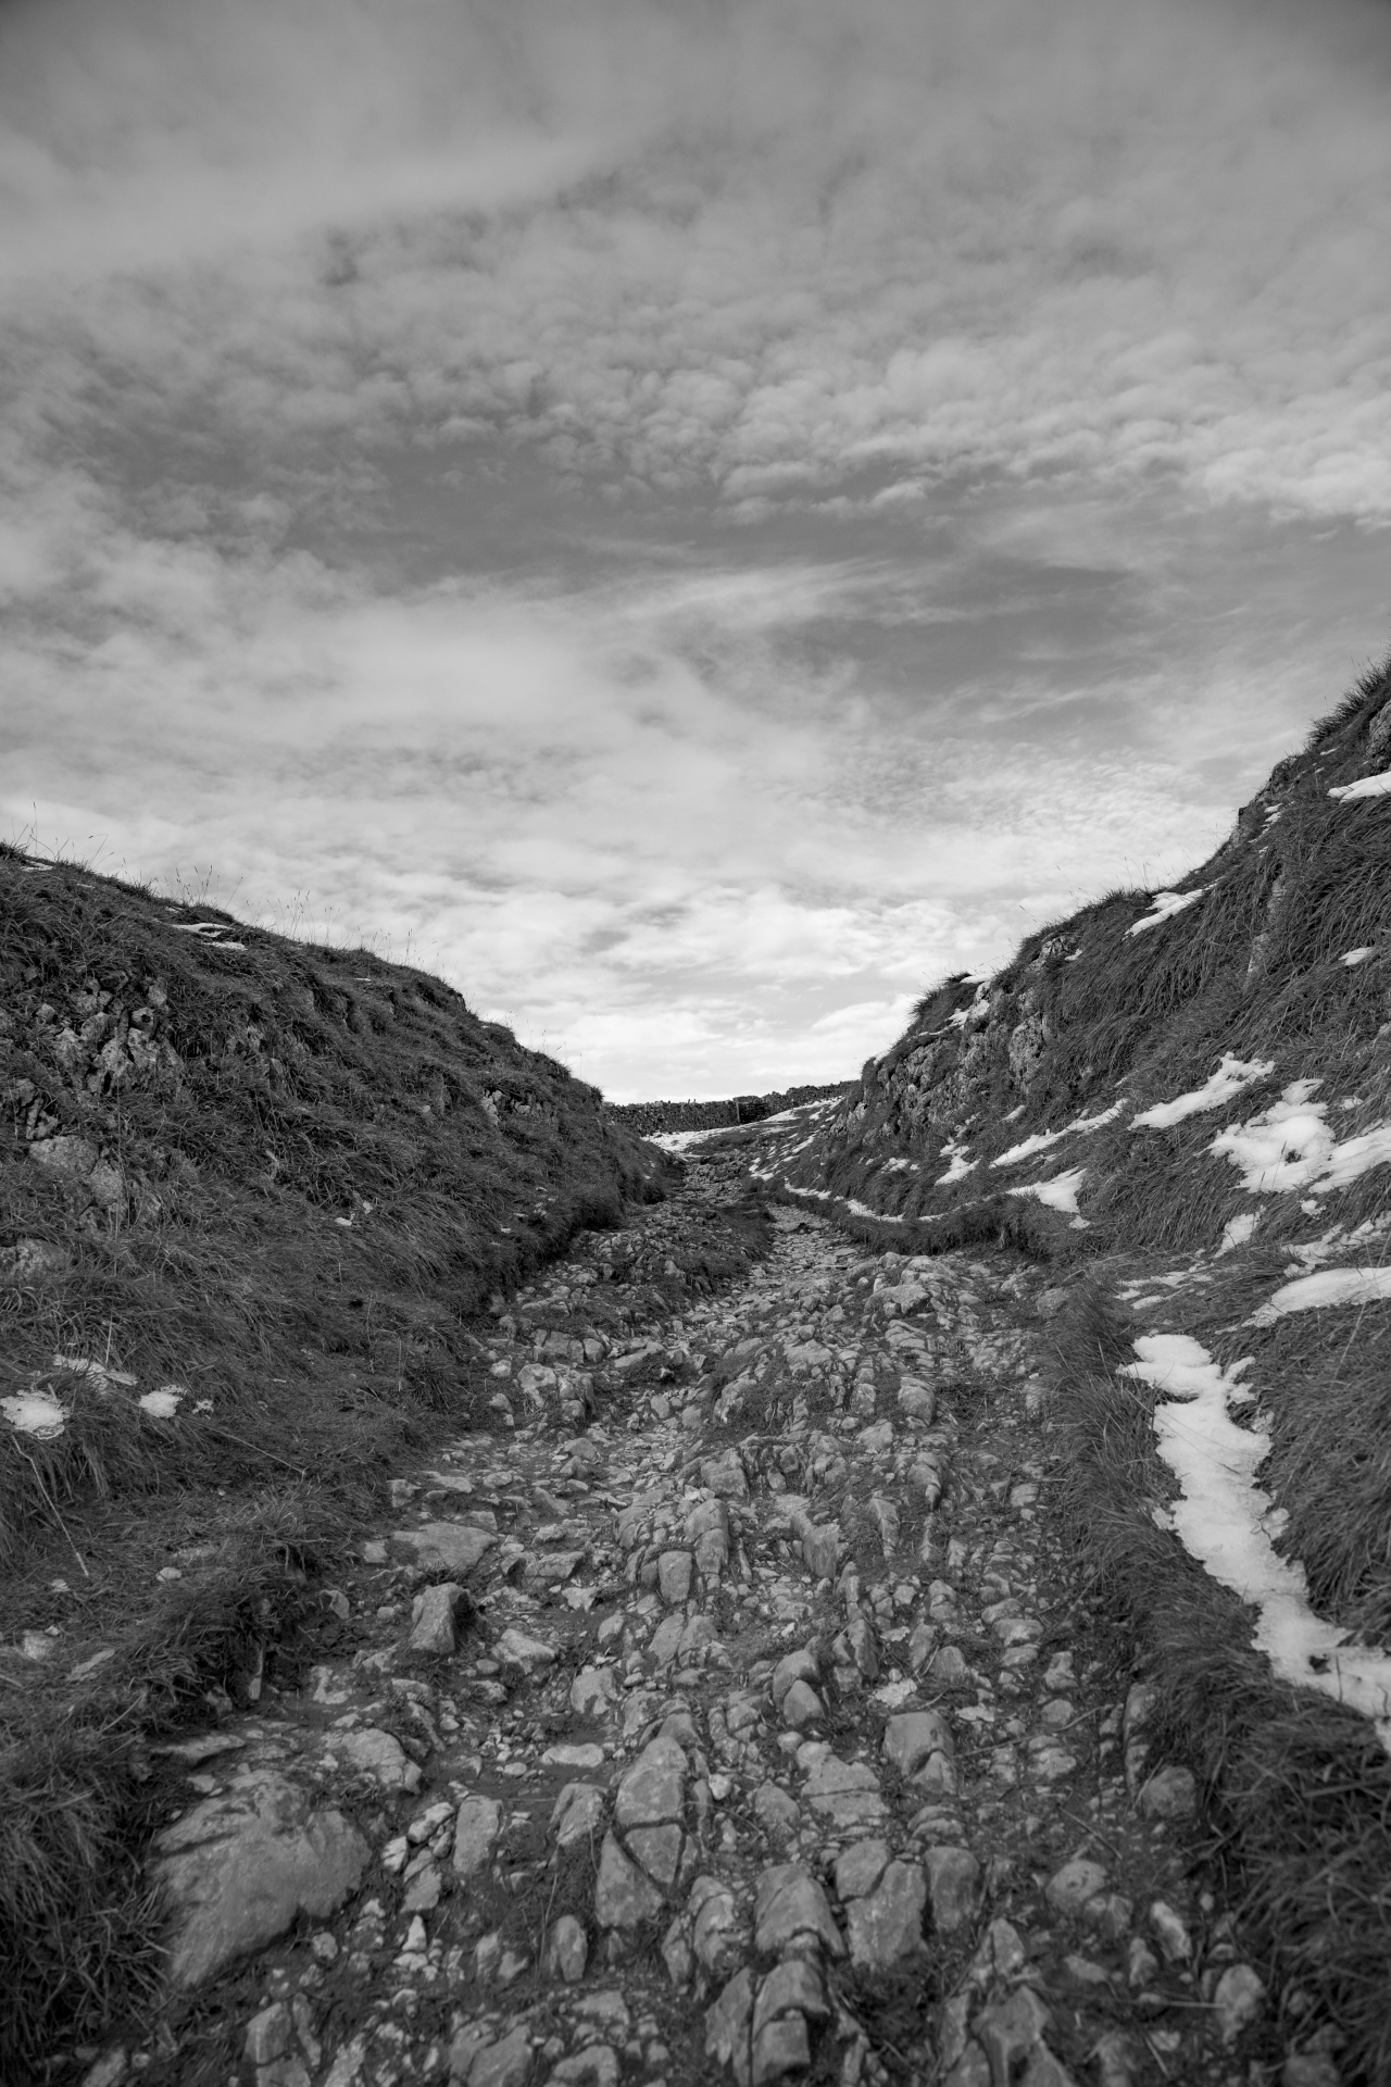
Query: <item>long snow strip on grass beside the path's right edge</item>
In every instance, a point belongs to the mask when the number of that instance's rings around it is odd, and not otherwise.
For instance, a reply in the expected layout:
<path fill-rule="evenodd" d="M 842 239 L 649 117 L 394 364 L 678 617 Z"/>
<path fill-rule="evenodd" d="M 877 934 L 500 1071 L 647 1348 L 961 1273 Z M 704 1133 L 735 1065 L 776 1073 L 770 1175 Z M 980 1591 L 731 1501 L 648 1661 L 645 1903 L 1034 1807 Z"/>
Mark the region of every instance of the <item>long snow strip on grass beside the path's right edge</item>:
<path fill-rule="evenodd" d="M 1255 1609 L 1255 1649 L 1280 1680 L 1358 1709 L 1391 1753 L 1391 1657 L 1349 1642 L 1347 1630 L 1314 1615 L 1303 1565 L 1272 1544 L 1285 1511 L 1255 1484 L 1270 1436 L 1230 1417 L 1230 1407 L 1255 1396 L 1237 1382 L 1249 1357 L 1224 1371 L 1187 1334 L 1141 1334 L 1134 1352 L 1139 1361 L 1124 1363 L 1122 1375 L 1170 1394 L 1155 1407 L 1153 1425 L 1160 1457 L 1182 1486 L 1174 1507 L 1155 1511 L 1155 1519 Z"/>

